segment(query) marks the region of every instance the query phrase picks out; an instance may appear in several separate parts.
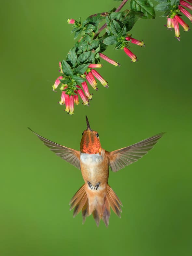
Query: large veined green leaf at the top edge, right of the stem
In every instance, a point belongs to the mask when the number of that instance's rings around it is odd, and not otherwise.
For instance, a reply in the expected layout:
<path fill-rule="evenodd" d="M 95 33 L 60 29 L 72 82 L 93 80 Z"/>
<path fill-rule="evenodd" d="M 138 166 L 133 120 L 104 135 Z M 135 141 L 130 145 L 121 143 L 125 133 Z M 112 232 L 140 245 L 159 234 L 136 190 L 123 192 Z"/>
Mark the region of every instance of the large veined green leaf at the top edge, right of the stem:
<path fill-rule="evenodd" d="M 150 0 L 130 0 L 130 9 L 144 13 L 143 19 L 154 19 L 154 5 Z"/>

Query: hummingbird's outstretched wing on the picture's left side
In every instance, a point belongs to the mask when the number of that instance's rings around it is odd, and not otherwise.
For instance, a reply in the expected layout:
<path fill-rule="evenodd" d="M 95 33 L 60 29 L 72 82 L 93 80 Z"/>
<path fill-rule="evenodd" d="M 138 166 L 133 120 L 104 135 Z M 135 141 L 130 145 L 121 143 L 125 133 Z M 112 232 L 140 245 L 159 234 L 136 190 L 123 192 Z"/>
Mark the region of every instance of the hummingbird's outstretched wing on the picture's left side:
<path fill-rule="evenodd" d="M 29 128 L 30 131 L 32 131 Z M 57 144 L 51 140 L 48 140 L 34 131 L 32 131 L 43 143 L 50 148 L 56 155 L 60 156 L 65 161 L 69 162 L 70 164 L 74 165 L 76 168 L 80 169 L 80 152 L 75 149 L 70 149 L 60 144 Z"/>

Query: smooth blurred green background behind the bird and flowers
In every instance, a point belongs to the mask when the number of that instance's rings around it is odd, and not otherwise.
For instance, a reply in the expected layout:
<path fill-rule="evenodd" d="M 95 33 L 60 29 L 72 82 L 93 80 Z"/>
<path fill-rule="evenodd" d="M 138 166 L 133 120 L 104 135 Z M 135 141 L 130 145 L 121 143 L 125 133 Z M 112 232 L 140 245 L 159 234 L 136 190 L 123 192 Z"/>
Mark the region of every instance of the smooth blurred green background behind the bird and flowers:
<path fill-rule="evenodd" d="M 164 27 L 165 18 L 140 20 L 132 45 L 139 61 L 110 47 L 100 70 L 110 88 L 99 86 L 90 106 L 67 115 L 51 91 L 58 62 L 74 44 L 67 18 L 118 6 L 98 1 L 2 1 L 0 255 L 191 255 L 191 41 Z M 185 19 L 186 22 L 189 21 Z M 90 88 L 90 87 L 89 87 Z M 91 89 L 90 89 L 91 90 Z M 69 201 L 83 178 L 78 169 L 50 152 L 27 127 L 50 140 L 79 149 L 85 115 L 112 151 L 165 131 L 137 163 L 110 171 L 109 184 L 123 203 L 119 219 L 97 228 L 82 225 Z"/>

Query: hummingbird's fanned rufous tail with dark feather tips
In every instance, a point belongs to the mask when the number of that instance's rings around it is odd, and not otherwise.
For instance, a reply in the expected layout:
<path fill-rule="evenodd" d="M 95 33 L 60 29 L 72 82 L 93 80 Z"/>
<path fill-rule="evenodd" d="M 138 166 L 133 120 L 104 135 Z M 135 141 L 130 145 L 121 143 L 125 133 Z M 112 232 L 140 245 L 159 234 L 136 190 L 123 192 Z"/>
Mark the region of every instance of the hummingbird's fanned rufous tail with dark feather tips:
<path fill-rule="evenodd" d="M 109 217 L 111 213 L 110 207 L 117 216 L 121 217 L 121 206 L 123 206 L 113 189 L 108 184 L 106 185 L 104 198 L 103 192 L 100 192 L 99 190 L 90 191 L 88 195 L 86 192 L 86 184 L 84 184 L 75 193 L 70 204 L 70 210 L 75 207 L 73 217 L 82 210 L 83 224 L 85 223 L 86 217 L 92 214 L 97 226 L 99 226 L 100 220 L 102 219 L 106 227 L 109 225 Z"/>

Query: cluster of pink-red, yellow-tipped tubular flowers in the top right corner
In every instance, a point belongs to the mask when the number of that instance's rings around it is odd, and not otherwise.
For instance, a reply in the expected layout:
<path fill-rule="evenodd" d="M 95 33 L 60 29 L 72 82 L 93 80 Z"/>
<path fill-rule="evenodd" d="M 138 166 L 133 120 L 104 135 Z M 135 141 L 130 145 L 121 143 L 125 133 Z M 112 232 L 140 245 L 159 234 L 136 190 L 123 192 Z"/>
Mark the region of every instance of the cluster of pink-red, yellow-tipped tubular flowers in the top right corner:
<path fill-rule="evenodd" d="M 192 3 L 191 0 L 188 0 Z M 170 13 L 170 17 L 167 18 L 167 28 L 175 30 L 175 38 L 180 41 L 180 31 L 179 31 L 179 24 L 184 28 L 184 31 L 189 31 L 190 28 L 188 24 L 180 17 L 180 12 L 182 12 L 191 22 L 192 22 L 192 15 L 183 7 L 189 8 L 192 10 L 192 5 L 190 3 L 185 2 L 184 0 L 180 0 L 178 7 L 175 7 L 174 10 Z"/>

